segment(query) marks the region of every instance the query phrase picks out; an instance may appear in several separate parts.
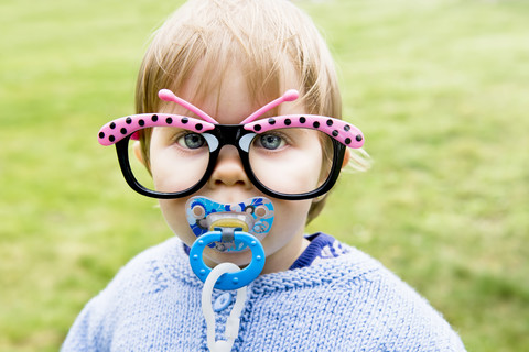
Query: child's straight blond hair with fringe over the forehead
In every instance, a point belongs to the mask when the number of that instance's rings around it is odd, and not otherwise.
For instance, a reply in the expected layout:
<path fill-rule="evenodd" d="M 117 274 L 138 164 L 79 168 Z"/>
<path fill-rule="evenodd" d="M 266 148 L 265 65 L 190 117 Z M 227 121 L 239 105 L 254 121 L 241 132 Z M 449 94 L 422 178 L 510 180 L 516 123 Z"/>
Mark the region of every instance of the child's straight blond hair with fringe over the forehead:
<path fill-rule="evenodd" d="M 201 100 L 218 94 L 231 65 L 245 74 L 250 97 L 268 102 L 295 88 L 307 113 L 342 118 L 342 99 L 334 62 L 312 20 L 287 0 L 190 0 L 155 32 L 141 64 L 138 113 L 158 112 L 158 91 L 176 94 L 203 66 L 195 91 Z M 299 87 L 282 87 L 289 70 Z M 292 74 L 292 73 L 290 73 Z M 148 161 L 150 133 L 140 136 Z M 307 221 L 323 208 L 314 201 Z"/>

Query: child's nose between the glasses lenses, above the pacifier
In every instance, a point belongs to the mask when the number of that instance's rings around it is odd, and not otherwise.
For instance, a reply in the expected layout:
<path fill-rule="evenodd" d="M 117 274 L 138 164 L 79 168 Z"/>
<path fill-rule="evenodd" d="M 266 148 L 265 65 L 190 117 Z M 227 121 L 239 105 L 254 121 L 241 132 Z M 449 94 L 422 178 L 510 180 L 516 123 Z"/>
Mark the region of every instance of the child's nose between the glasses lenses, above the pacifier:
<path fill-rule="evenodd" d="M 246 175 L 245 167 L 235 146 L 223 146 L 207 185 L 210 188 L 223 186 L 251 188 L 251 182 Z"/>

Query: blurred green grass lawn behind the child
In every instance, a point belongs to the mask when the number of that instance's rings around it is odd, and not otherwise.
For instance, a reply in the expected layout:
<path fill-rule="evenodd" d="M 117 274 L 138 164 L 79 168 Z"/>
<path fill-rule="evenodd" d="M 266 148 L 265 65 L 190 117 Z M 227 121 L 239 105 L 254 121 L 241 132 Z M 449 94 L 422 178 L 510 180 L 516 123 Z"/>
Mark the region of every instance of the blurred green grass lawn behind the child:
<path fill-rule="evenodd" d="M 57 350 L 119 267 L 171 235 L 96 134 L 133 111 L 145 43 L 177 3 L 0 2 L 1 351 Z M 298 3 L 374 158 L 310 230 L 378 257 L 469 351 L 527 350 L 529 2 Z"/>

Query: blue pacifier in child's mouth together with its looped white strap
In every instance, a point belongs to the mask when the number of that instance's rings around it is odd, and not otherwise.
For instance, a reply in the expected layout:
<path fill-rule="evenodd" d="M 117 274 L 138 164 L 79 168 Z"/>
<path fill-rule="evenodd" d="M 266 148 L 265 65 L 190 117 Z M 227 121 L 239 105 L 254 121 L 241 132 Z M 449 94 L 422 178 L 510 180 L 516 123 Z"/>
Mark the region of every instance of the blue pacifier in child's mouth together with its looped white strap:
<path fill-rule="evenodd" d="M 264 197 L 255 197 L 237 204 L 220 204 L 206 197 L 193 197 L 187 200 L 185 211 L 191 230 L 197 237 L 191 246 L 190 263 L 195 275 L 204 283 L 202 312 L 206 320 L 207 348 L 212 352 L 231 351 L 247 298 L 246 286 L 255 280 L 264 267 L 261 240 L 272 227 L 272 201 Z M 234 263 L 220 263 L 212 270 L 202 256 L 206 246 L 219 252 L 250 250 L 251 262 L 242 270 Z M 214 287 L 237 290 L 237 298 L 226 320 L 224 340 L 216 340 L 216 319 L 212 307 Z"/>

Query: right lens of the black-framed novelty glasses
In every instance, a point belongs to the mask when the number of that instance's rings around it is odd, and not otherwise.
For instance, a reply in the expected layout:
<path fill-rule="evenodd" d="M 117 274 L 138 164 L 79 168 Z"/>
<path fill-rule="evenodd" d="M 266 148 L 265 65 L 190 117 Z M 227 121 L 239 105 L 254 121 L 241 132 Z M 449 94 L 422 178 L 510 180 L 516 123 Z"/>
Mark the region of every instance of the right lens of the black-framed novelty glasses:
<path fill-rule="evenodd" d="M 330 177 L 333 166 L 332 139 L 303 128 L 277 129 L 255 136 L 249 148 L 256 178 L 277 193 L 296 195 L 313 191 Z"/>

